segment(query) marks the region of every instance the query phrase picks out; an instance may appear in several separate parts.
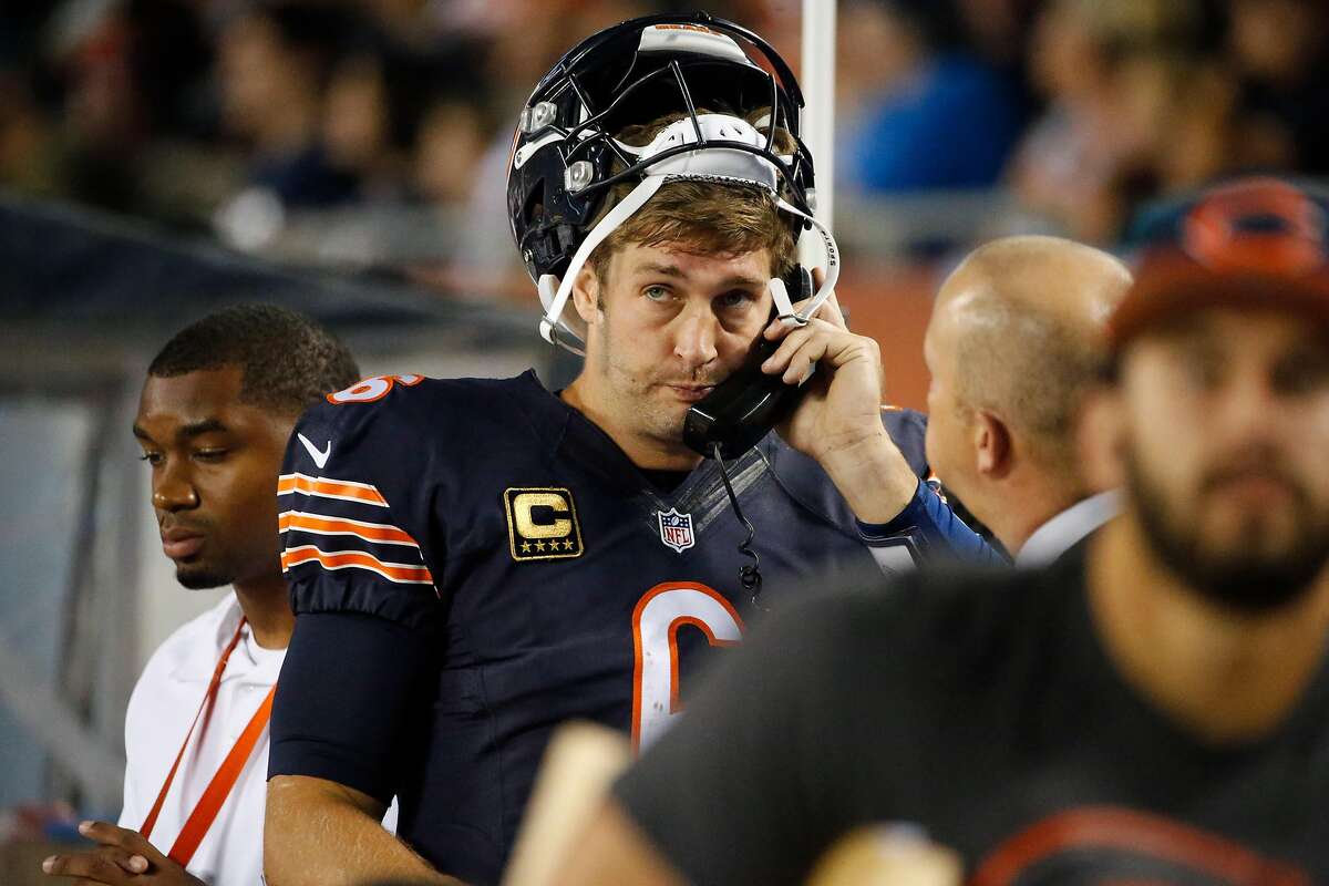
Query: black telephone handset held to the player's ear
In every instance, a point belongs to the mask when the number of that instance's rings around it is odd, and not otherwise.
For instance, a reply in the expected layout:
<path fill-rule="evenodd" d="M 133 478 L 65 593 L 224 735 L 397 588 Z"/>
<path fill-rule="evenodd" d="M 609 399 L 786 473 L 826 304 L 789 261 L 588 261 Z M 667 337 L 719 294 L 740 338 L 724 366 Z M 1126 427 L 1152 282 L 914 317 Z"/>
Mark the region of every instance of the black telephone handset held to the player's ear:
<path fill-rule="evenodd" d="M 784 284 L 793 302 L 812 295 L 812 275 L 801 266 L 793 268 Z M 779 347 L 779 341 L 758 336 L 743 365 L 687 410 L 683 442 L 707 457 L 715 454 L 715 444 L 719 444 L 720 457 L 730 460 L 746 453 L 780 424 L 793 410 L 803 389 L 784 384 L 779 375 L 762 372 L 762 364 Z"/>

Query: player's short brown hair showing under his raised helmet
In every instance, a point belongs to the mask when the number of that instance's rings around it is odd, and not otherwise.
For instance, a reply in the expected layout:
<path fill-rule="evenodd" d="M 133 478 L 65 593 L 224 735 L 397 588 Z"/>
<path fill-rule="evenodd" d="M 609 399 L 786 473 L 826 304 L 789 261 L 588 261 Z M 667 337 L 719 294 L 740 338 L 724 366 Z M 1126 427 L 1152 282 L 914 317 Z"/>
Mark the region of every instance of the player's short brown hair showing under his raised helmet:
<path fill-rule="evenodd" d="M 766 112 L 755 114 L 756 118 L 764 116 Z M 680 113 L 668 114 L 650 124 L 630 126 L 618 134 L 618 139 L 634 146 L 647 145 L 657 133 L 683 117 Z M 791 153 L 793 139 L 785 130 L 776 129 L 772 147 L 777 153 Z M 603 218 L 633 187 L 631 182 L 615 186 L 599 217 Z M 667 182 L 605 238 L 586 263 L 603 284 L 609 279 L 609 263 L 614 254 L 629 243 L 668 244 L 696 255 L 743 255 L 764 248 L 771 256 L 771 274 L 785 276 L 795 262 L 793 231 L 791 221 L 776 209 L 775 198 L 760 187 L 702 181 Z"/>

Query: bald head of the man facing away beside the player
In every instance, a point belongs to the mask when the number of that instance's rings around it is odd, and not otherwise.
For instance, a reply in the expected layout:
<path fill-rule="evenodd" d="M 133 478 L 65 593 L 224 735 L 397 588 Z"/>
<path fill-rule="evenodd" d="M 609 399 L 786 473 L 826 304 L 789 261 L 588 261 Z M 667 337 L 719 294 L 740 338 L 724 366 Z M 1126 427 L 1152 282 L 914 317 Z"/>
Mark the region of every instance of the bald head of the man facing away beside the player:
<path fill-rule="evenodd" d="M 983 472 L 971 433 L 979 416 L 1002 422 L 1022 469 L 1043 474 L 1071 501 L 1082 493 L 1071 425 L 1106 359 L 1107 316 L 1130 283 L 1130 271 L 1107 252 L 1013 236 L 974 250 L 942 284 L 925 341 L 929 400 L 937 400 L 929 402 L 937 425 L 929 456 L 979 519 L 990 525 L 981 494 L 965 489 Z"/>

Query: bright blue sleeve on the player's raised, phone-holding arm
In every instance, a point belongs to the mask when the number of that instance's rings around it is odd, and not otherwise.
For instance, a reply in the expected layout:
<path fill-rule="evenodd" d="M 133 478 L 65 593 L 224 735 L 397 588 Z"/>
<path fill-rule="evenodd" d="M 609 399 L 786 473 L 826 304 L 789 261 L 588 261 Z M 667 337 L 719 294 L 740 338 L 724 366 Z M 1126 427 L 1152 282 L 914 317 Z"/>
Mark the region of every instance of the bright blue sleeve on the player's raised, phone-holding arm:
<path fill-rule="evenodd" d="M 930 482 L 920 482 L 914 497 L 888 523 L 859 521 L 859 534 L 873 555 L 886 549 L 905 549 L 914 562 L 956 559 L 983 566 L 1009 562 L 974 530 L 969 529 Z M 884 569 L 889 569 L 877 557 Z"/>

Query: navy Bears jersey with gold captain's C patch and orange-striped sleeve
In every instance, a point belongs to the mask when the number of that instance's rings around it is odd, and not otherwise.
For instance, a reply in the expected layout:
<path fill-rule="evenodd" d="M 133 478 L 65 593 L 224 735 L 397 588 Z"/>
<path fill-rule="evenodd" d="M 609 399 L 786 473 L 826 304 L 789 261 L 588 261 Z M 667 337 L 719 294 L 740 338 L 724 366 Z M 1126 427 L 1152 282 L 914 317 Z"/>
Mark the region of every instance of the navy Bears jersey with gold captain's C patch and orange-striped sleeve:
<path fill-rule="evenodd" d="M 397 794 L 417 851 L 494 882 L 553 728 L 587 719 L 651 743 L 708 648 L 758 615 L 746 533 L 715 462 L 661 491 L 533 373 L 371 379 L 330 400 L 296 426 L 279 486 L 298 618 L 270 772 Z M 925 476 L 921 416 L 884 417 Z M 767 606 L 876 574 L 870 546 L 910 542 L 865 538 L 776 434 L 730 472 Z M 315 632 L 343 659 L 320 658 Z"/>

